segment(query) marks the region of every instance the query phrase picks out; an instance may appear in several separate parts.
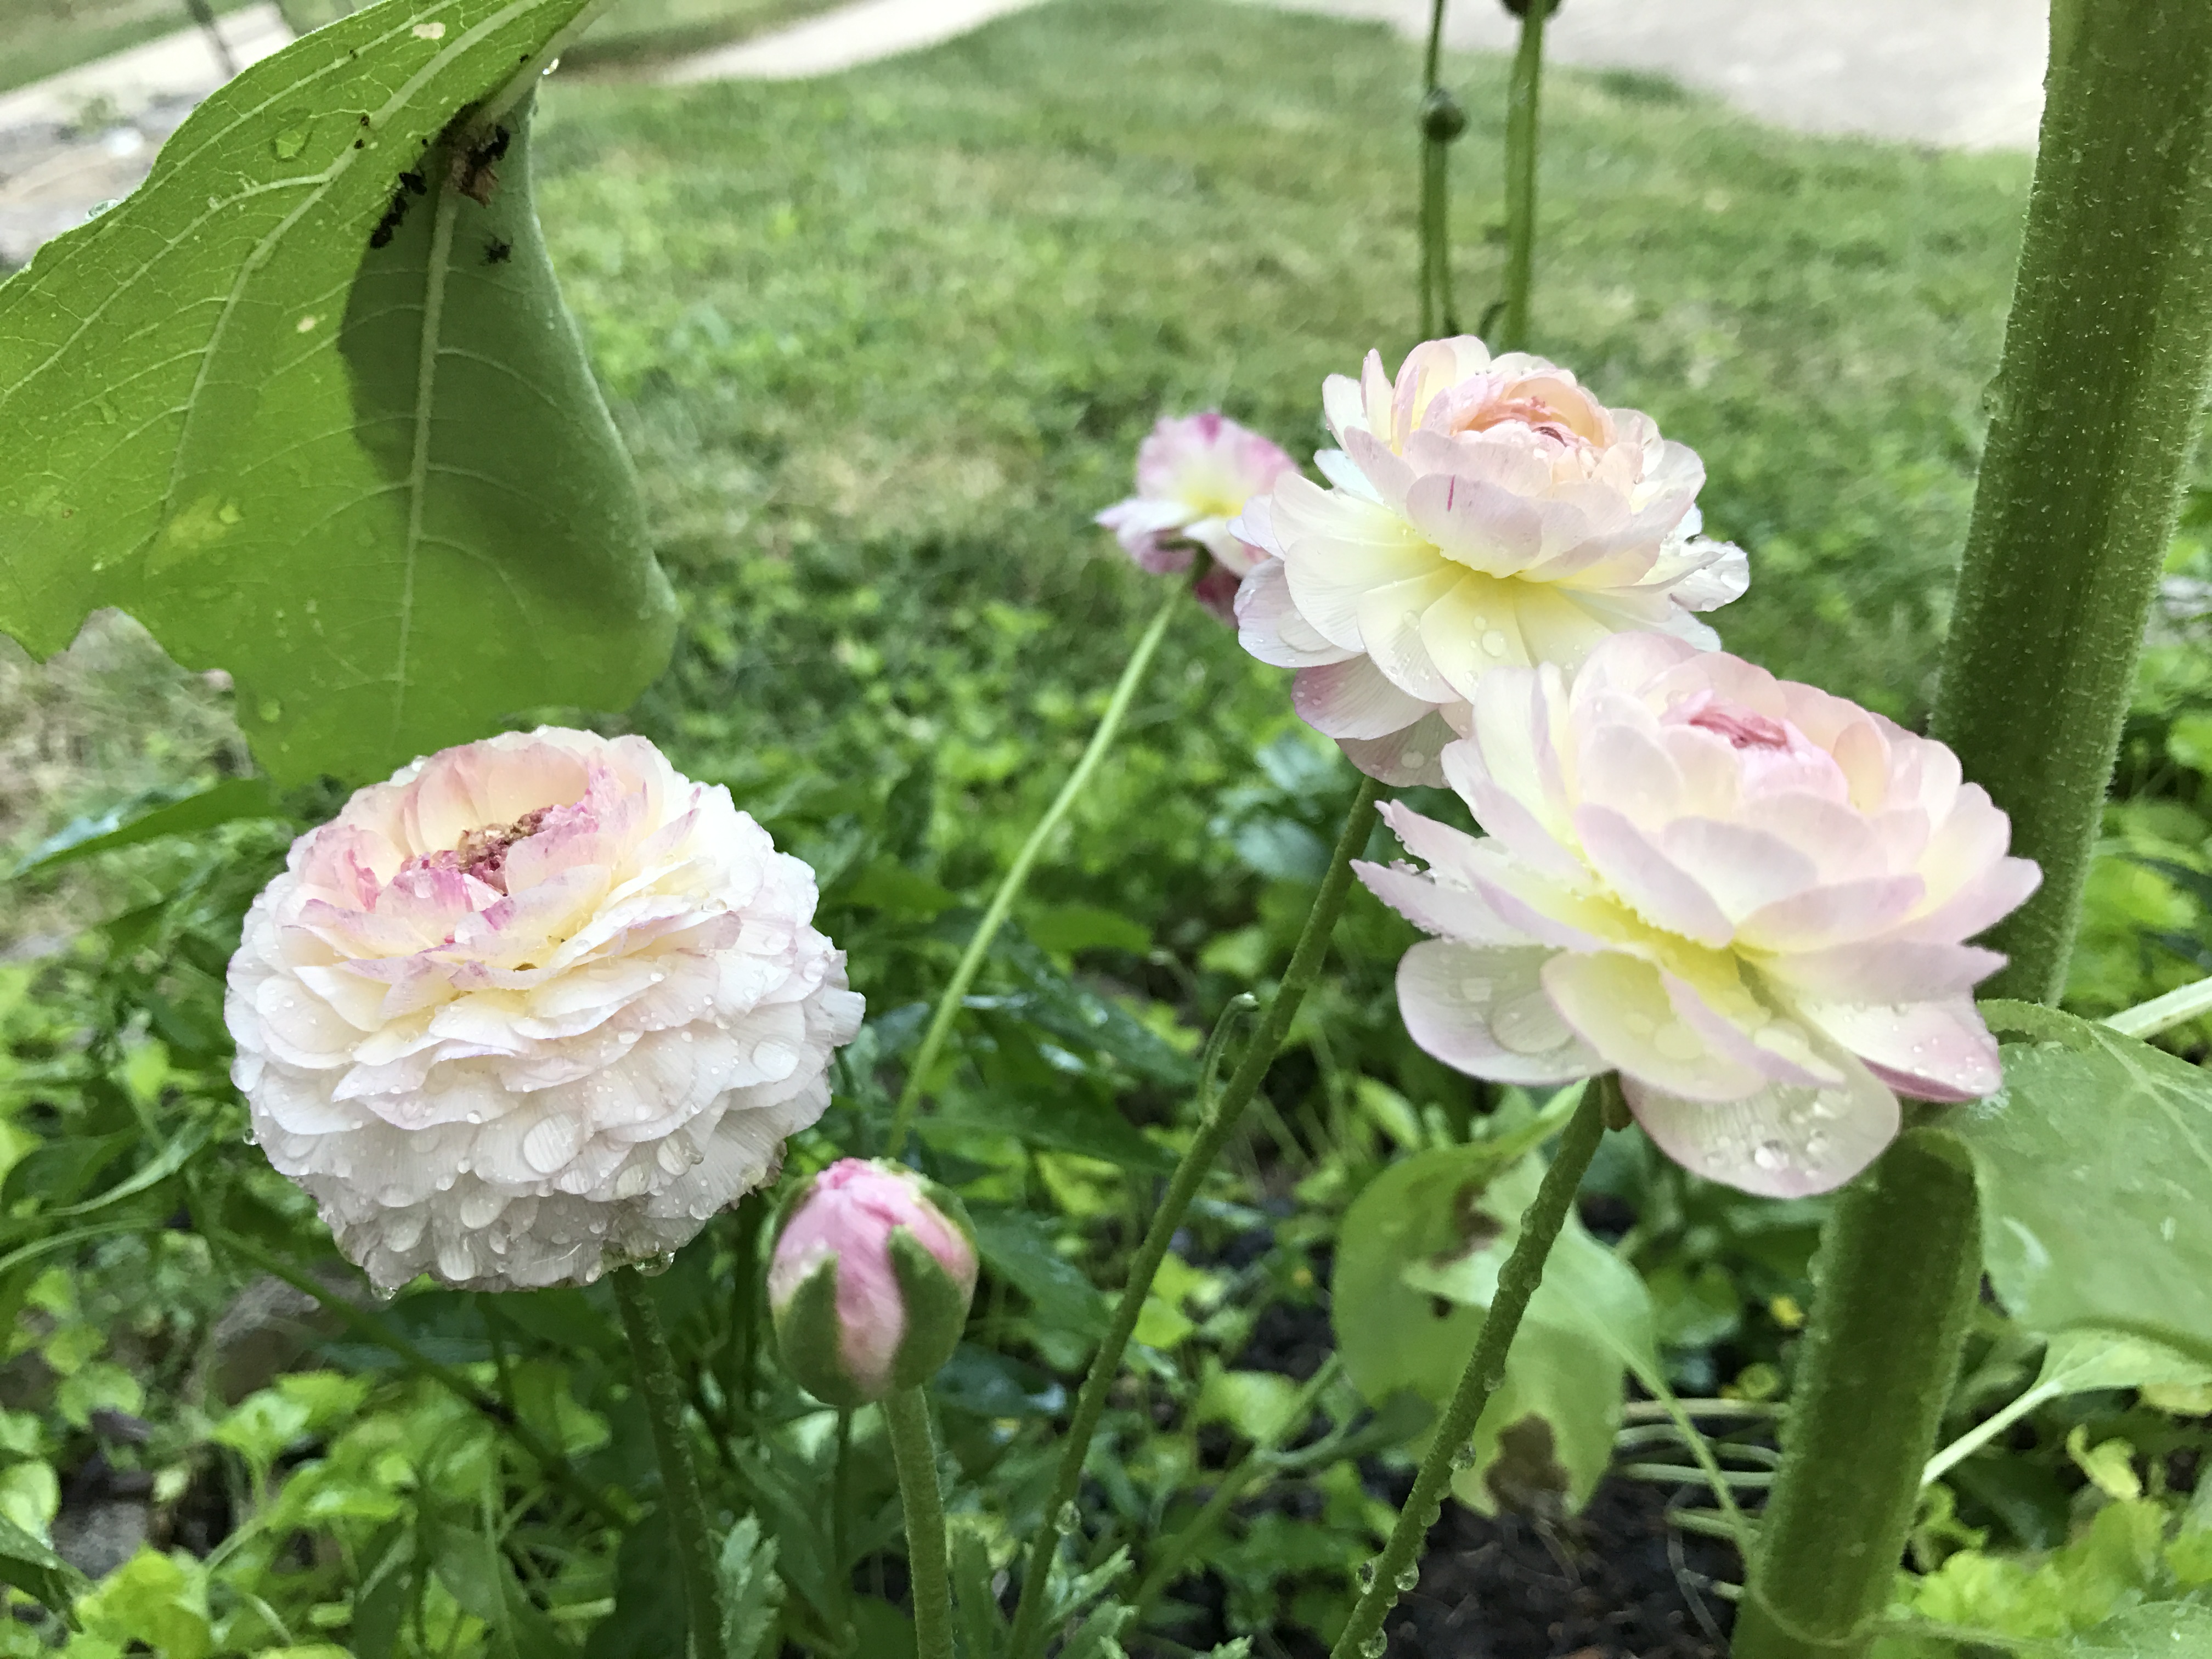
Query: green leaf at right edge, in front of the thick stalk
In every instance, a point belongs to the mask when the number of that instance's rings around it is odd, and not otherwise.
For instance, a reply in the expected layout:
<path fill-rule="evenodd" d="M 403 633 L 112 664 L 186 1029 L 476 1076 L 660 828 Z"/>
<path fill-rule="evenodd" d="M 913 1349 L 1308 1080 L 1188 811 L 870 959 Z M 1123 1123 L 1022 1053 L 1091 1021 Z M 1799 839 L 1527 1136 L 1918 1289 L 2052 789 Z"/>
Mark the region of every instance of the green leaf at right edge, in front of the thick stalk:
<path fill-rule="evenodd" d="M 1973 1155 L 1982 1259 L 2035 1332 L 2135 1332 L 2212 1358 L 2212 1077 L 2108 1026 L 1984 1004 L 2004 1088 L 1949 1128 Z"/>

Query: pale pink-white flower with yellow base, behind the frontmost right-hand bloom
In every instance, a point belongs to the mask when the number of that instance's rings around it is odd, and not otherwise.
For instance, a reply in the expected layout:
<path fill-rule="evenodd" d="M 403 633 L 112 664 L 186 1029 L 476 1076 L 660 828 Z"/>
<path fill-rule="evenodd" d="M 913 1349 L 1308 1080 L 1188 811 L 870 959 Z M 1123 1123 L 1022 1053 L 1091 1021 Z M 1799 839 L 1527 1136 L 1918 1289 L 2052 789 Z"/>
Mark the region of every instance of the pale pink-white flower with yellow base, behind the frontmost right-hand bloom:
<path fill-rule="evenodd" d="M 1575 668 L 1617 633 L 1719 644 L 1692 613 L 1739 597 L 1743 551 L 1699 535 L 1705 469 L 1650 416 L 1544 358 L 1429 341 L 1398 378 L 1332 374 L 1329 489 L 1285 473 L 1230 526 L 1272 553 L 1239 639 L 1296 668 L 1298 714 L 1385 783 L 1442 783 L 1493 668 Z"/>

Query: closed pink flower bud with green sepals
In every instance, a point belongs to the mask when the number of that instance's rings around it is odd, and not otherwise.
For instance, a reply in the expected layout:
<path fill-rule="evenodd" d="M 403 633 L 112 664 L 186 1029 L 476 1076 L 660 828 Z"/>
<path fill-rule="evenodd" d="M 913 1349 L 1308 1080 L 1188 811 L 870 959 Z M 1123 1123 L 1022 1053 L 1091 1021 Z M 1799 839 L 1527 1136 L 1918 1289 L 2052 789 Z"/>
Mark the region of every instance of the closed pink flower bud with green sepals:
<path fill-rule="evenodd" d="M 975 1239 L 960 1199 L 856 1157 L 807 1183 L 768 1263 L 783 1367 L 838 1407 L 929 1380 L 960 1343 L 973 1294 Z"/>

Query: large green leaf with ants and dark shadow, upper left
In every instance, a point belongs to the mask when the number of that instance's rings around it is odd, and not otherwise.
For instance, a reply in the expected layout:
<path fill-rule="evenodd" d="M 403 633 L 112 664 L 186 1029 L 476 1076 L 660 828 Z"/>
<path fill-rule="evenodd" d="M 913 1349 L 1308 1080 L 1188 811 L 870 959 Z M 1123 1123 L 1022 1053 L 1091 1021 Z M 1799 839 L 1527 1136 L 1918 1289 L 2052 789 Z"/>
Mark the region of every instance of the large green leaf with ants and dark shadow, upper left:
<path fill-rule="evenodd" d="M 582 9 L 319 29 L 0 285 L 0 628 L 46 655 L 122 606 L 237 677 L 281 783 L 644 688 L 672 599 L 515 102 Z"/>

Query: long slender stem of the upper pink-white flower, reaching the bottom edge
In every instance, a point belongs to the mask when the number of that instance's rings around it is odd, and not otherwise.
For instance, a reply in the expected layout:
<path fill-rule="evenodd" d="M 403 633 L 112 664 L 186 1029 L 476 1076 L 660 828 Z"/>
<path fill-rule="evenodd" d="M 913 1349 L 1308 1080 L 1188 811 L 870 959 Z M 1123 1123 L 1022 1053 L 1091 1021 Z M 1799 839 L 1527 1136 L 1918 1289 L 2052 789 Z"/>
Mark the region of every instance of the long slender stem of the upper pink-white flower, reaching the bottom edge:
<path fill-rule="evenodd" d="M 1237 1062 L 1237 1071 L 1230 1073 L 1221 1097 L 1206 1110 L 1206 1121 L 1192 1137 L 1190 1150 L 1175 1166 L 1168 1194 L 1161 1199 L 1159 1210 L 1152 1212 L 1152 1225 L 1146 1228 L 1144 1243 L 1137 1245 L 1137 1254 L 1130 1259 L 1121 1301 L 1115 1303 L 1113 1321 L 1106 1327 L 1099 1352 L 1091 1356 L 1084 1387 L 1075 1396 L 1075 1416 L 1068 1420 L 1068 1436 L 1060 1449 L 1060 1473 L 1053 1478 L 1053 1495 L 1044 1506 L 1044 1526 L 1037 1528 L 1037 1540 L 1029 1548 L 1029 1568 L 1022 1575 L 1022 1601 L 1013 1610 L 1013 1637 L 1006 1646 L 1011 1659 L 1029 1659 L 1040 1648 L 1037 1626 L 1044 1621 L 1044 1582 L 1053 1564 L 1053 1553 L 1060 1546 L 1060 1513 L 1075 1502 L 1075 1493 L 1082 1489 L 1091 1436 L 1097 1433 L 1099 1418 L 1106 1413 L 1106 1394 L 1121 1369 L 1121 1354 L 1128 1352 L 1128 1338 L 1137 1329 L 1137 1314 L 1144 1312 L 1144 1298 L 1152 1294 L 1152 1279 L 1168 1254 L 1168 1241 L 1183 1225 L 1183 1212 L 1190 1210 L 1190 1201 L 1199 1194 L 1199 1183 L 1206 1181 L 1214 1159 L 1221 1157 L 1221 1148 L 1228 1146 L 1230 1135 L 1237 1130 L 1237 1119 L 1243 1117 L 1245 1106 L 1252 1104 L 1252 1095 L 1259 1093 L 1261 1079 L 1267 1075 L 1267 1066 L 1274 1064 L 1276 1048 L 1283 1046 L 1298 1004 L 1305 1002 L 1305 993 L 1321 975 L 1321 962 L 1329 953 L 1329 933 L 1336 931 L 1336 918 L 1343 914 L 1345 894 L 1352 887 L 1352 860 L 1367 845 L 1367 836 L 1374 830 L 1374 807 L 1380 796 L 1383 785 L 1363 776 L 1358 794 L 1352 796 L 1352 812 L 1345 814 L 1345 827 L 1336 836 L 1329 872 L 1321 878 L 1321 891 L 1314 894 L 1314 909 L 1307 911 L 1305 927 L 1298 931 L 1298 945 L 1290 953 L 1290 969 L 1283 973 L 1283 984 L 1267 1004 L 1267 1013 L 1261 1015 L 1259 1031 L 1252 1033 L 1252 1046 Z"/>

